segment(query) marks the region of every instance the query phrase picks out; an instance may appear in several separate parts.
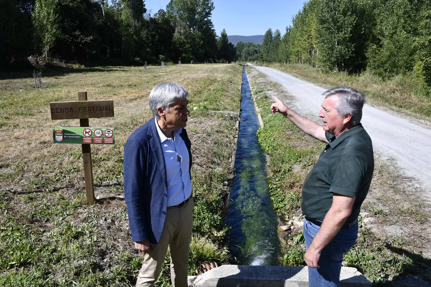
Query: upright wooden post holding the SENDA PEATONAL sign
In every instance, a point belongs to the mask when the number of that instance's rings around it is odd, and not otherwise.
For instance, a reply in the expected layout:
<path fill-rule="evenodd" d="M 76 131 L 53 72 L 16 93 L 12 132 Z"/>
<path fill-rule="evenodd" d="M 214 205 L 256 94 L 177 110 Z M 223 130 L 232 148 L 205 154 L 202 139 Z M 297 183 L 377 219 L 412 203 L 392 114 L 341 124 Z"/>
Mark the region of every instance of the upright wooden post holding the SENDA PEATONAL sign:
<path fill-rule="evenodd" d="M 78 92 L 78 101 L 87 101 L 87 91 Z M 88 119 L 79 119 L 80 127 L 89 127 Z M 84 160 L 85 194 L 87 200 L 94 204 L 93 164 L 91 163 L 91 145 L 82 144 L 82 159 Z"/>

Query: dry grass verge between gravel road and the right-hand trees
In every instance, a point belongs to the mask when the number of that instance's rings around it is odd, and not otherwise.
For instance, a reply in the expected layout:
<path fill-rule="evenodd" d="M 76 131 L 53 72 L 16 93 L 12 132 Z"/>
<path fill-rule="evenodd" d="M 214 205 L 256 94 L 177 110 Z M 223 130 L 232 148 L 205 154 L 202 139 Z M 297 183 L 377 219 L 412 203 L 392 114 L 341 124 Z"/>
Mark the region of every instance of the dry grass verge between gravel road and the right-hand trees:
<path fill-rule="evenodd" d="M 422 82 L 411 76 L 398 75 L 382 80 L 369 71 L 360 75 L 346 72 L 325 72 L 310 65 L 279 63 L 265 64 L 303 80 L 330 89 L 334 86 L 351 86 L 365 93 L 377 105 L 396 107 L 431 120 L 431 92 Z"/>

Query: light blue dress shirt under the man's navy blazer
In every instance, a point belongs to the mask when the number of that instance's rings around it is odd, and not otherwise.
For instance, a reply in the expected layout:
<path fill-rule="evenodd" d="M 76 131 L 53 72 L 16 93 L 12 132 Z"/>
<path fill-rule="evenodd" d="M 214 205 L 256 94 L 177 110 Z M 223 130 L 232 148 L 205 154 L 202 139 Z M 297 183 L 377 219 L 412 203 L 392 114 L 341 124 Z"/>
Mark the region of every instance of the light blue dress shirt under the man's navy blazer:
<path fill-rule="evenodd" d="M 174 139 L 166 137 L 156 121 L 162 145 L 163 157 L 166 166 L 166 181 L 168 182 L 168 206 L 178 205 L 191 195 L 191 182 L 189 173 L 189 155 L 187 146 L 181 138 L 183 129 L 174 131 Z M 178 157 L 179 156 L 179 157 Z M 178 159 L 181 158 L 181 161 Z"/>

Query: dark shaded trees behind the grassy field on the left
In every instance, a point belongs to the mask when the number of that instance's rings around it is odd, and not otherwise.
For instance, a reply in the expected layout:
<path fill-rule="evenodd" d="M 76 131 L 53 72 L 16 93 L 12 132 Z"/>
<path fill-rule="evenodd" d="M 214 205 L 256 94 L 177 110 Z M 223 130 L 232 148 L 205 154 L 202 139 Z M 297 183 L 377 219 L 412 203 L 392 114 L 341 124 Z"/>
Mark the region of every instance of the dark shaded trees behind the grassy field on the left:
<path fill-rule="evenodd" d="M 153 15 L 144 0 L 0 0 L 0 64 L 52 59 L 94 65 L 231 62 L 212 0 L 171 0 Z"/>

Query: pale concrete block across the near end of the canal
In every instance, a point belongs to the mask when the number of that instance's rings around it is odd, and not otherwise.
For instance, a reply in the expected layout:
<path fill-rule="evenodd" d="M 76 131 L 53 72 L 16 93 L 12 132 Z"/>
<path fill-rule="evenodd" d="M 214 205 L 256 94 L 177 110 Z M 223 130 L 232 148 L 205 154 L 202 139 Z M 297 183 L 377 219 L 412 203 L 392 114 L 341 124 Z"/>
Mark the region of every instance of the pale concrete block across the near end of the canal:
<path fill-rule="evenodd" d="M 308 287 L 308 268 L 222 265 L 193 278 L 194 287 Z M 356 268 L 342 267 L 340 287 L 371 287 Z"/>

